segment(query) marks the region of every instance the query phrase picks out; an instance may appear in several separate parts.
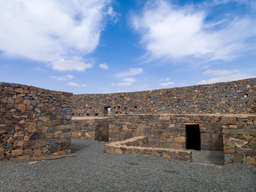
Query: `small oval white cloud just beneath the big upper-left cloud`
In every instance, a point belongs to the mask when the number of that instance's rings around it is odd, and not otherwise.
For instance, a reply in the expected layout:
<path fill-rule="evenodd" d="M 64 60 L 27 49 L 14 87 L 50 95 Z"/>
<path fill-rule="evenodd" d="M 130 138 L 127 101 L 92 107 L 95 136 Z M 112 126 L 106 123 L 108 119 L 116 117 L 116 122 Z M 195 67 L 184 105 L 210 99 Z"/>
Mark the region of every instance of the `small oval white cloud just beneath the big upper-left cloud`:
<path fill-rule="evenodd" d="M 78 60 L 65 60 L 60 59 L 57 61 L 51 62 L 52 69 L 57 71 L 79 71 L 83 72 L 86 69 L 92 68 L 93 65 L 91 63 L 84 63 L 82 61 Z"/>

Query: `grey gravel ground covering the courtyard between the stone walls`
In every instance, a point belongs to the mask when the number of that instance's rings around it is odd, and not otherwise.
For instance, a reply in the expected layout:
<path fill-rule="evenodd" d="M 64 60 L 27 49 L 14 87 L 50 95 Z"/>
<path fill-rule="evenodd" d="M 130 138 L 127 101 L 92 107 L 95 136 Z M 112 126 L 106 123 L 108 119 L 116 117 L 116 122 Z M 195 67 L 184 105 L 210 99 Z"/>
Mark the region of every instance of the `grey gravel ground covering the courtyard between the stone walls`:
<path fill-rule="evenodd" d="M 2 161 L 0 191 L 255 191 L 256 188 L 256 166 L 216 165 L 223 163 L 214 160 L 221 159 L 220 152 L 216 155 L 200 151 L 195 153 L 197 162 L 189 163 L 152 155 L 104 154 L 104 144 L 73 139 L 72 154 L 77 157 L 31 165 L 30 161 L 9 165 Z M 201 154 L 206 154 L 203 161 L 199 161 Z"/>

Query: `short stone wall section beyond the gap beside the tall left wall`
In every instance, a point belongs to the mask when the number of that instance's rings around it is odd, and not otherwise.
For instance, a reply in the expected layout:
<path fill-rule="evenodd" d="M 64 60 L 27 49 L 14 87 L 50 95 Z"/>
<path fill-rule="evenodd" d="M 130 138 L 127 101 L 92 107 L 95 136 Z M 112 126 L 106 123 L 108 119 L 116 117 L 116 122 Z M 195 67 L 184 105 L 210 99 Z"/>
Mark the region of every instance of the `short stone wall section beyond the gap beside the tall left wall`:
<path fill-rule="evenodd" d="M 73 117 L 72 138 L 93 139 L 96 141 L 108 142 L 108 118 L 94 117 L 82 119 Z"/>

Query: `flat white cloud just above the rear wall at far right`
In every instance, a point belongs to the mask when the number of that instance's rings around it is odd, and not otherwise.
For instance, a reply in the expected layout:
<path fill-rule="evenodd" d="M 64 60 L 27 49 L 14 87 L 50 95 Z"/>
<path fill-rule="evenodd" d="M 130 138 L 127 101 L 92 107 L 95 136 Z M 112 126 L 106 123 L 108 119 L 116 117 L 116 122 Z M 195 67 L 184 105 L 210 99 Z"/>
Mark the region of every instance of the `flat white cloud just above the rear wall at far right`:
<path fill-rule="evenodd" d="M 202 75 L 213 75 L 219 76 L 209 80 L 202 80 L 198 82 L 198 84 L 211 84 L 211 83 L 219 83 L 219 82 L 229 82 L 236 81 L 248 78 L 254 78 L 255 76 L 248 75 L 246 73 L 241 74 L 239 70 L 207 70 Z"/>

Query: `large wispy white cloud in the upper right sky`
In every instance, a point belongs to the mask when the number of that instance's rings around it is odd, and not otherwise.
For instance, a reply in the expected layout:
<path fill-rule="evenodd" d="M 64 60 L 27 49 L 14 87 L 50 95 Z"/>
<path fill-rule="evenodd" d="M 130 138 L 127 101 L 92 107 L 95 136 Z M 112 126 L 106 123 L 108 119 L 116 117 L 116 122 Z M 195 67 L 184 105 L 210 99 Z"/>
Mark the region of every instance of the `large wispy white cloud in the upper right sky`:
<path fill-rule="evenodd" d="M 142 14 L 132 20 L 134 29 L 142 35 L 148 60 L 232 60 L 249 48 L 255 50 L 246 40 L 255 38 L 256 20 L 227 15 L 223 20 L 209 22 L 205 20 L 207 9 L 211 9 L 207 6 L 202 4 L 200 9 L 194 5 L 177 7 L 161 0 L 149 1 Z"/>

